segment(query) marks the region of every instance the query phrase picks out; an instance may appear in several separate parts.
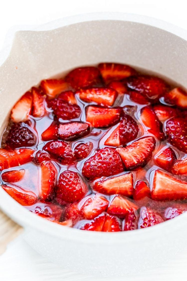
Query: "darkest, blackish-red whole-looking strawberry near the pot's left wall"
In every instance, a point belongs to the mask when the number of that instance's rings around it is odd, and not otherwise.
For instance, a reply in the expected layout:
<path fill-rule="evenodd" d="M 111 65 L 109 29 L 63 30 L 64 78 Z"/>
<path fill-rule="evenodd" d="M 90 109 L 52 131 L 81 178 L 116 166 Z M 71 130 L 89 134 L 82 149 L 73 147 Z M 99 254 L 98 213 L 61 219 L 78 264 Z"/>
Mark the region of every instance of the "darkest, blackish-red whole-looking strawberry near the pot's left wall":
<path fill-rule="evenodd" d="M 34 146 L 36 136 L 23 122 L 13 123 L 6 137 L 6 148 L 15 149 L 23 146 Z"/>

